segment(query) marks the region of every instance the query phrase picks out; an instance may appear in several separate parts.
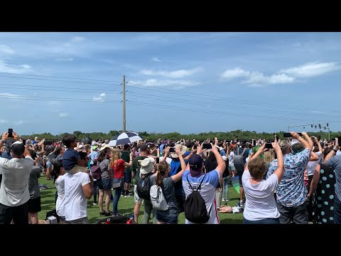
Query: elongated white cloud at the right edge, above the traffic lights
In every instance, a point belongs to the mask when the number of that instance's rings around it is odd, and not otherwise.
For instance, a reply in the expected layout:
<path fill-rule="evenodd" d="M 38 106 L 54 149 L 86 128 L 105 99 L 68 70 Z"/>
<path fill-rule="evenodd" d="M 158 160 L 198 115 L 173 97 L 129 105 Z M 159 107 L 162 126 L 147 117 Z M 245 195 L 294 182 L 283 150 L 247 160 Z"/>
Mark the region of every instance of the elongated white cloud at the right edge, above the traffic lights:
<path fill-rule="evenodd" d="M 298 78 L 309 78 L 316 75 L 324 75 L 326 73 L 330 73 L 334 70 L 340 69 L 340 66 L 337 63 L 318 63 L 311 62 L 305 63 L 298 67 L 286 68 L 281 70 L 281 73 L 287 73 L 289 75 L 293 75 Z"/>

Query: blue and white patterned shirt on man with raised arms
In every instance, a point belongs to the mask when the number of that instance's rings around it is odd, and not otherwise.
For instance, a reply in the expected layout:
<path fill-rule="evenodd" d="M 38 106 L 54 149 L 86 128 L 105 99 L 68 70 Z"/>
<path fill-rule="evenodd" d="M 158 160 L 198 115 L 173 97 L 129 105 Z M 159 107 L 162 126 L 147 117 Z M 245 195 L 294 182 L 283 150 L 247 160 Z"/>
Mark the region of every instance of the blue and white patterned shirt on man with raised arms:
<path fill-rule="evenodd" d="M 307 188 L 304 186 L 303 174 L 310 158 L 310 150 L 304 149 L 297 154 L 285 154 L 284 174 L 277 188 L 277 203 L 282 206 L 301 206 L 307 196 Z M 271 162 L 266 178 L 277 169 L 277 159 Z"/>

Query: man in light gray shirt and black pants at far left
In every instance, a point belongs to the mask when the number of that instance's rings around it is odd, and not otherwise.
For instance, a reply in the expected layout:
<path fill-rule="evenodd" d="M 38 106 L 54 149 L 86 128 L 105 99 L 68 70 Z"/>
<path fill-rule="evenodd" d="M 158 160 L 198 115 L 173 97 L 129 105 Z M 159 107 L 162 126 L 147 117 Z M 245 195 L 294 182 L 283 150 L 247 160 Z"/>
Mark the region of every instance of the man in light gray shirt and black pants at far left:
<path fill-rule="evenodd" d="M 0 148 L 9 137 L 8 132 L 2 134 Z M 2 181 L 0 188 L 0 224 L 28 224 L 28 200 L 30 192 L 28 180 L 34 161 L 28 146 L 18 142 L 18 134 L 13 132 L 16 142 L 11 144 L 12 159 L 0 157 Z"/>

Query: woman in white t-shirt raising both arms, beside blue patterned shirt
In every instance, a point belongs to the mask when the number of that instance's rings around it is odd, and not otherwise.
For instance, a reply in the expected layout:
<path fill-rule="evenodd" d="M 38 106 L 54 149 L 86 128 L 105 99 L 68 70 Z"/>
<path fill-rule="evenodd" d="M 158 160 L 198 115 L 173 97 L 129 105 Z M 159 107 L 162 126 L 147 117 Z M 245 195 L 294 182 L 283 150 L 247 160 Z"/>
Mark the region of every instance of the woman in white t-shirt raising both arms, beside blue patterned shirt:
<path fill-rule="evenodd" d="M 259 150 L 250 156 L 242 176 L 244 193 L 247 198 L 244 207 L 244 224 L 279 224 L 281 215 L 276 206 L 274 191 L 281 181 L 284 172 L 284 162 L 281 147 L 277 142 L 272 146 L 277 154 L 278 168 L 266 180 L 263 179 L 265 162 L 258 156 L 265 150 L 265 142 Z"/>

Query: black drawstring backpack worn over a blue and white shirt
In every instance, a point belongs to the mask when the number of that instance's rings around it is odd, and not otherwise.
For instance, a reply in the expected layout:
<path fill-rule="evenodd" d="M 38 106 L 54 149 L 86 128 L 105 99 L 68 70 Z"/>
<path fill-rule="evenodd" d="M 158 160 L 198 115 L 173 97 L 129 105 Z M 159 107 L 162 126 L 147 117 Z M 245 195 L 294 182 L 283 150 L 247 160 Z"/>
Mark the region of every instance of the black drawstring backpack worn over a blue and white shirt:
<path fill-rule="evenodd" d="M 204 181 L 205 176 L 204 178 L 202 178 L 202 181 Z M 190 185 L 190 181 L 188 181 L 188 175 L 186 176 L 186 178 L 188 184 Z M 197 187 L 197 190 L 194 190 L 193 186 L 190 185 L 192 193 L 188 195 L 185 203 L 183 204 L 183 208 L 185 209 L 185 218 L 193 223 L 207 223 L 207 221 L 210 220 L 212 206 L 210 208 L 210 212 L 207 214 L 205 200 L 204 198 L 202 198 L 200 192 L 198 191 L 199 188 L 201 189 L 202 181 Z"/>

